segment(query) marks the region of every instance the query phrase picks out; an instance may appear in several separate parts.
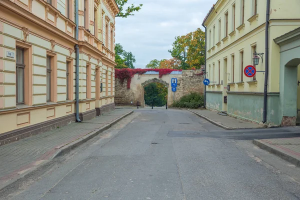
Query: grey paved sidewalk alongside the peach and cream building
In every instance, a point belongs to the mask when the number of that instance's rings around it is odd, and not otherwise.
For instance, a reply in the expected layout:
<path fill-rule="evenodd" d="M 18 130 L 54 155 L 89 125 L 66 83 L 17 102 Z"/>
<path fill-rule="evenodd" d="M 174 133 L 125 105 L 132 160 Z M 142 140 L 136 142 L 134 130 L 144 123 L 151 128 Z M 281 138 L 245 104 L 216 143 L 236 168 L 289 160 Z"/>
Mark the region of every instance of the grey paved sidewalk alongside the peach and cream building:
<path fill-rule="evenodd" d="M 61 128 L 0 146 L 0 190 L 28 172 L 80 145 L 131 114 L 114 110 L 91 120 L 71 123 Z"/>

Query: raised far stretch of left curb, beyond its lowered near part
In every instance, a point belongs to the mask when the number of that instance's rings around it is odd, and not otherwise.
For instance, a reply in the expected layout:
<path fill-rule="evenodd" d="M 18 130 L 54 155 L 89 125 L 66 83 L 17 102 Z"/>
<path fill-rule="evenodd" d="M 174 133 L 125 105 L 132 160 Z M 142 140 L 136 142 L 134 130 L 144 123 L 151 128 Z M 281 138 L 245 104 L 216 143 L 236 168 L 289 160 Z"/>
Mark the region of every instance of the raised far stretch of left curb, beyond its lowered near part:
<path fill-rule="evenodd" d="M 133 113 L 133 110 L 131 110 L 130 112 L 122 115 L 122 116 L 119 116 L 117 117 L 116 119 L 112 120 L 110 123 L 107 123 L 106 125 L 92 131 L 92 132 L 89 132 L 87 133 L 86 135 L 84 135 L 83 137 L 81 138 L 78 138 L 76 139 L 75 141 L 72 141 L 64 146 L 62 146 L 59 150 L 57 150 L 54 155 L 52 155 L 52 157 L 50 158 L 51 159 L 54 159 L 58 156 L 61 156 L 67 152 L 69 152 L 70 150 L 72 150 L 73 148 L 79 146 L 80 144 L 86 142 L 87 140 L 95 137 L 96 135 L 98 135 L 99 133 L 103 132 L 104 130 L 107 130 L 108 128 L 110 128 L 112 125 L 114 125 L 115 123 L 117 123 L 118 121 L 120 121 L 121 119 L 123 119 L 124 117 L 128 116 L 129 114 L 132 114 Z"/>

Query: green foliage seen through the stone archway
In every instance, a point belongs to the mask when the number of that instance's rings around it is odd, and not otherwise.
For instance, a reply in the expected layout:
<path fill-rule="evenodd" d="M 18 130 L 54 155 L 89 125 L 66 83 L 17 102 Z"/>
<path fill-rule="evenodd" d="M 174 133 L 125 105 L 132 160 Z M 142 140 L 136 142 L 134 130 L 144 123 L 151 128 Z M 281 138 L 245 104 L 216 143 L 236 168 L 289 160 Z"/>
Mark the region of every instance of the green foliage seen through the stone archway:
<path fill-rule="evenodd" d="M 144 87 L 146 105 L 163 106 L 167 99 L 167 87 L 161 83 L 150 83 Z"/>

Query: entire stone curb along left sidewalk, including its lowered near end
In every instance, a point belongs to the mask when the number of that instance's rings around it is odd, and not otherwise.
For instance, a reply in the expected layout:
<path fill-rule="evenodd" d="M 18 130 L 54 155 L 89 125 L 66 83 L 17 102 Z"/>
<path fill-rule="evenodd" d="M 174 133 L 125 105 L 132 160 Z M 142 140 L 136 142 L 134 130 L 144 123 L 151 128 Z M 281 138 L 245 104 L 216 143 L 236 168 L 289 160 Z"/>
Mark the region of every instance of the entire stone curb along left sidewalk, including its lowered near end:
<path fill-rule="evenodd" d="M 4 190 L 5 188 L 9 187 L 10 185 L 12 185 L 13 183 L 15 183 L 18 180 L 24 179 L 29 177 L 31 174 L 34 174 L 38 169 L 40 169 L 43 166 L 49 165 L 50 162 L 54 159 L 57 158 L 67 152 L 69 152 L 70 150 L 74 149 L 75 147 L 79 146 L 80 144 L 86 142 L 87 140 L 93 138 L 94 136 L 98 135 L 99 133 L 103 132 L 104 130 L 107 130 L 108 128 L 110 128 L 112 125 L 114 125 L 115 123 L 117 123 L 118 121 L 120 121 L 121 119 L 125 118 L 126 116 L 130 115 L 133 113 L 133 110 L 131 110 L 130 112 L 127 112 L 126 114 L 123 114 L 119 117 L 117 117 L 116 119 L 110 121 L 109 123 L 107 123 L 106 125 L 93 130 L 92 132 L 87 133 L 86 135 L 84 135 L 81 138 L 76 139 L 75 141 L 72 141 L 64 146 L 62 146 L 60 149 L 58 149 L 52 156 L 50 159 L 46 160 L 44 163 L 38 164 L 35 167 L 33 167 L 32 169 L 29 169 L 26 173 L 22 174 L 20 177 L 16 177 L 14 179 L 11 179 L 10 181 L 7 182 L 6 185 L 2 185 L 0 186 L 0 191 Z"/>

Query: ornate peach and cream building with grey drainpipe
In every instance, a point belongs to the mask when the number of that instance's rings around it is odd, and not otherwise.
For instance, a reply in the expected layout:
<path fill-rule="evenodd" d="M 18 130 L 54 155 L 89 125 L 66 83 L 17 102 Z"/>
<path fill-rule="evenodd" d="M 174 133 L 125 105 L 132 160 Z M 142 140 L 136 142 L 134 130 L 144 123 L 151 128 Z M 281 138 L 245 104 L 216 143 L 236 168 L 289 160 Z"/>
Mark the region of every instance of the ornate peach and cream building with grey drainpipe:
<path fill-rule="evenodd" d="M 114 109 L 118 12 L 114 0 L 0 0 L 0 144 Z"/>

